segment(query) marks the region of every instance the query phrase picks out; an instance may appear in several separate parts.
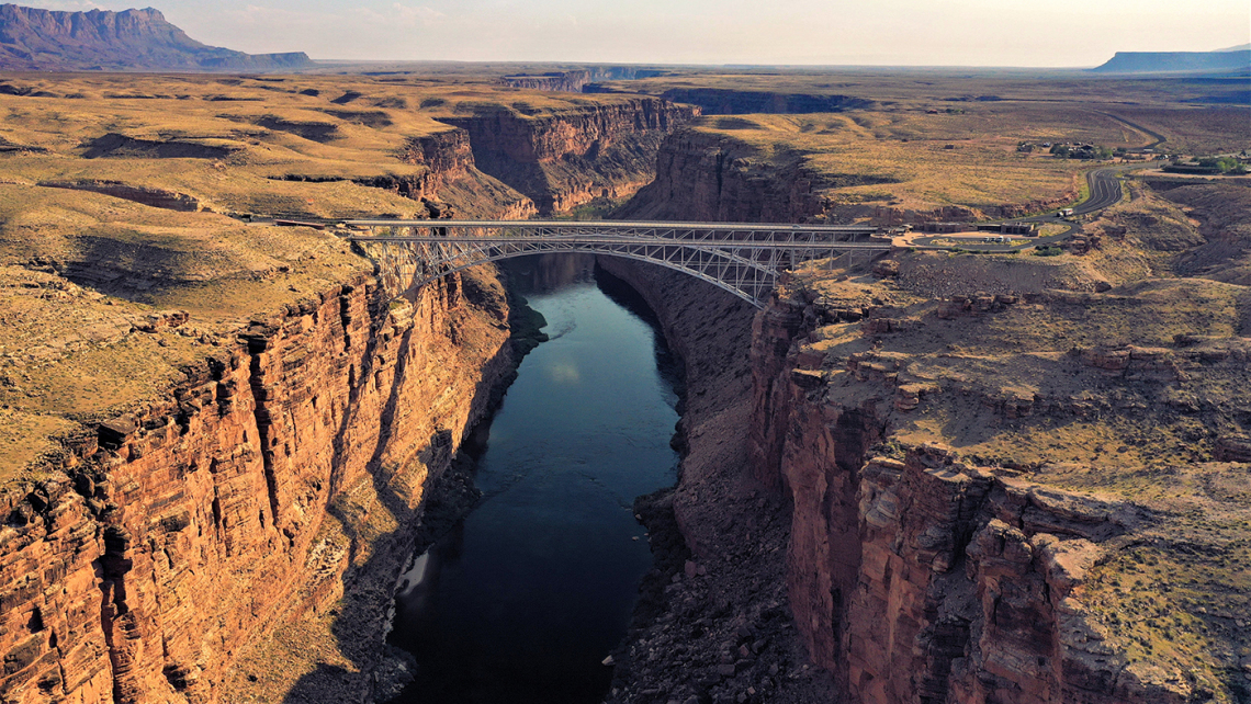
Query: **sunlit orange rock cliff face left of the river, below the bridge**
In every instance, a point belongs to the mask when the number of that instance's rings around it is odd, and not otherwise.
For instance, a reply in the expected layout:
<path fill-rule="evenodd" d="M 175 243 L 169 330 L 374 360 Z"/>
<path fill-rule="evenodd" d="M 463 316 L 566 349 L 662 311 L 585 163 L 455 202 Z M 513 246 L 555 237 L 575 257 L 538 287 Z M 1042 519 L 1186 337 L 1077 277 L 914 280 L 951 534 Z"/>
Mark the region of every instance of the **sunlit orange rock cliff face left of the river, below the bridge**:
<path fill-rule="evenodd" d="M 498 288 L 388 305 L 362 276 L 11 485 L 0 699 L 219 700 L 240 649 L 324 613 L 378 526 L 412 524 L 510 369 L 505 320 Z"/>

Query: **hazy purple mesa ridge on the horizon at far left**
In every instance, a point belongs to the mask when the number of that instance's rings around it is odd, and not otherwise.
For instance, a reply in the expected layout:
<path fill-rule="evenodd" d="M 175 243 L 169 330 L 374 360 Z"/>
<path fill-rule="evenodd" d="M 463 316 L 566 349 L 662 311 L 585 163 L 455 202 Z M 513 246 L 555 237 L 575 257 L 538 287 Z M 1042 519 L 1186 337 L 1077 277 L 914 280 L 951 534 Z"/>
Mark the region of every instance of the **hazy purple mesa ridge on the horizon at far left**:
<path fill-rule="evenodd" d="M 200 44 L 159 10 L 65 13 L 0 5 L 0 70 L 266 71 L 308 66 L 308 54 L 244 54 Z"/>

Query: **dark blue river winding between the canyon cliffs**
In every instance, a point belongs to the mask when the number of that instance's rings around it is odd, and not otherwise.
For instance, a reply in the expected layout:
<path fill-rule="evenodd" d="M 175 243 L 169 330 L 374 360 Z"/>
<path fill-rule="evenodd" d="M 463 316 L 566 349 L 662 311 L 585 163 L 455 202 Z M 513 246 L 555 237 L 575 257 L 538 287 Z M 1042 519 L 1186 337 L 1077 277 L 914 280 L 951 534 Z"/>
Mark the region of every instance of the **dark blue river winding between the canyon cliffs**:
<path fill-rule="evenodd" d="M 634 496 L 672 485 L 676 365 L 637 295 L 590 256 L 510 263 L 549 340 L 490 421 L 477 508 L 420 555 L 392 643 L 404 703 L 594 703 L 652 559 Z"/>

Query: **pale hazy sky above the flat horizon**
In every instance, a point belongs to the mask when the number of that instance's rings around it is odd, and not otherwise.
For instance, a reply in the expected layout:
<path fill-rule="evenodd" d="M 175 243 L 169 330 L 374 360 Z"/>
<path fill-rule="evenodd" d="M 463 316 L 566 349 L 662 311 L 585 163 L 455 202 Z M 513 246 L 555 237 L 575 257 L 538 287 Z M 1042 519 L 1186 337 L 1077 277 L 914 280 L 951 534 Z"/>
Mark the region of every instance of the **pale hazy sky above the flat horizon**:
<path fill-rule="evenodd" d="M 1247 0 L 161 0 L 156 9 L 205 44 L 354 60 L 1093 66 L 1116 51 L 1251 41 Z"/>

